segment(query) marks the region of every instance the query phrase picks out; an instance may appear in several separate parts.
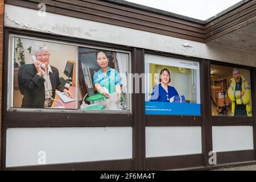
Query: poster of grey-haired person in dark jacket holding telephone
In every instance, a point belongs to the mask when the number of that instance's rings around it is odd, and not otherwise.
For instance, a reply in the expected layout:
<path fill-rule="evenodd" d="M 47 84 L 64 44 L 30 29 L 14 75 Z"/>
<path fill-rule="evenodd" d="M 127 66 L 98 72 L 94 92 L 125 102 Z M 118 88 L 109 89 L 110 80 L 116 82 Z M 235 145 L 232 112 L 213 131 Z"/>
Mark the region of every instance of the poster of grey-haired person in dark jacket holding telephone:
<path fill-rule="evenodd" d="M 76 109 L 76 46 L 18 36 L 11 40 L 11 107 Z"/>

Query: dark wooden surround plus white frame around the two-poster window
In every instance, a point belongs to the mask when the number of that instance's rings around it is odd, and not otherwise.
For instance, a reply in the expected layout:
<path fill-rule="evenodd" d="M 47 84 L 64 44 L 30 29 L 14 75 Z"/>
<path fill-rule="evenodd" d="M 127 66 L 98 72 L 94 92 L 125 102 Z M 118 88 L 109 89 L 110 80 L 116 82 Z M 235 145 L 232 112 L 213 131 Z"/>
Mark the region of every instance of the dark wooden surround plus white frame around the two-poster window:
<path fill-rule="evenodd" d="M 11 88 L 13 84 L 13 63 L 11 63 L 10 55 L 12 53 L 11 38 L 14 36 L 19 38 L 28 38 L 35 40 L 42 40 L 45 42 L 62 43 L 71 46 L 88 47 L 96 49 L 104 49 L 107 51 L 117 51 L 123 53 L 129 53 L 129 71 L 133 73 L 134 49 L 131 47 L 121 46 L 117 44 L 109 44 L 96 42 L 93 40 L 84 40 L 79 38 L 69 38 L 66 36 L 56 36 L 51 34 L 42 34 L 40 32 L 16 30 L 13 28 L 5 28 L 5 57 L 4 67 L 5 75 L 7 78 L 4 80 L 4 93 L 3 98 L 3 124 L 9 127 L 102 127 L 102 126 L 132 126 L 133 125 L 133 97 L 134 94 L 127 94 L 130 101 L 129 111 L 86 111 L 86 110 L 72 110 L 72 109 L 24 109 L 24 108 L 10 108 L 10 97 L 14 88 Z M 78 53 L 78 52 L 77 52 Z M 76 55 L 78 61 L 78 55 Z M 76 64 L 78 68 L 78 64 Z M 77 72 L 78 75 L 78 72 Z M 76 75 L 76 76 L 77 76 Z M 77 77 L 78 78 L 78 77 Z M 129 79 L 129 78 L 128 78 Z M 77 80 L 77 79 L 76 79 Z M 129 86 L 133 88 L 133 80 L 129 80 Z M 128 80 L 127 80 L 128 82 Z M 78 80 L 77 80 L 78 83 Z M 78 88 L 78 84 L 76 84 Z M 127 84 L 128 86 L 128 84 Z M 11 88 L 11 90 L 10 90 Z M 76 92 L 79 92 L 76 89 Z M 78 102 L 78 101 L 77 101 Z M 86 117 L 82 117 L 81 114 L 86 114 Z M 28 117 L 29 115 L 29 117 Z M 40 119 L 39 119 L 40 118 Z M 51 120 L 49 120 L 51 118 Z M 104 119 L 102 119 L 104 118 Z"/>

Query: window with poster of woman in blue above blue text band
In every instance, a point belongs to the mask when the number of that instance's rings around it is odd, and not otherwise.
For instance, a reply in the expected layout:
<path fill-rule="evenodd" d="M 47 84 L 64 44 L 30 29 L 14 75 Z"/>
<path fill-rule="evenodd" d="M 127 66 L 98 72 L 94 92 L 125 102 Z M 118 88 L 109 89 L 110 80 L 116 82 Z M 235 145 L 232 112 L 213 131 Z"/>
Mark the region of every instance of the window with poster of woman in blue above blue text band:
<path fill-rule="evenodd" d="M 146 114 L 200 115 L 198 61 L 145 55 Z"/>

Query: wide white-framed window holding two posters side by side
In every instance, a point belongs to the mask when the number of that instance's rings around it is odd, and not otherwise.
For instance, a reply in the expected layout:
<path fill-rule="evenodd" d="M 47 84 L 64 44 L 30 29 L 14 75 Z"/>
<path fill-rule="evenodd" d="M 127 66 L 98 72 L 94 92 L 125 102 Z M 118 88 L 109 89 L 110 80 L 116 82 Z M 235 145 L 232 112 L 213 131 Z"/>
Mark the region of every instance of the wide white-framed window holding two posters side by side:
<path fill-rule="evenodd" d="M 131 110 L 129 51 L 10 35 L 9 53 L 9 110 Z"/>

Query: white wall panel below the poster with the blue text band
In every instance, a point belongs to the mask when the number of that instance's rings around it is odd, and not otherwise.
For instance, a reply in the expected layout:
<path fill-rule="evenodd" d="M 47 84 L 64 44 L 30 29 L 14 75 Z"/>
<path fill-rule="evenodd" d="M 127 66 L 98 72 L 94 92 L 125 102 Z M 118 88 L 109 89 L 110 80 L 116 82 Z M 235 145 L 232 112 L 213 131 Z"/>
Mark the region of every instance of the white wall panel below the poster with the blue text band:
<path fill-rule="evenodd" d="M 201 152 L 201 127 L 146 127 L 147 158 Z"/>

